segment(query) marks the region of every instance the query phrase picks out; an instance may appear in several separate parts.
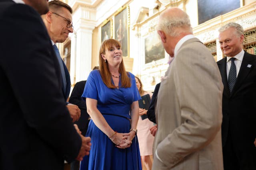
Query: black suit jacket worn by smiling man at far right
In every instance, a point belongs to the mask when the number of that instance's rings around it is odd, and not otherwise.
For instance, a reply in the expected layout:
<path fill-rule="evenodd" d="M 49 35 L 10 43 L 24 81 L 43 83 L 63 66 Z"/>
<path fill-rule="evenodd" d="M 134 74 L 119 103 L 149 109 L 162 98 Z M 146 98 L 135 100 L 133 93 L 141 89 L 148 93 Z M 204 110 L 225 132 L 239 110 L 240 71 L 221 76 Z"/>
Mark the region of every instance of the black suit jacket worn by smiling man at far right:
<path fill-rule="evenodd" d="M 225 57 L 217 62 L 224 84 L 222 147 L 225 146 L 228 133 L 231 133 L 237 152 L 242 150 L 256 160 L 253 144 L 256 137 L 256 55 L 245 52 L 232 94 L 228 88 L 226 60 Z"/>

